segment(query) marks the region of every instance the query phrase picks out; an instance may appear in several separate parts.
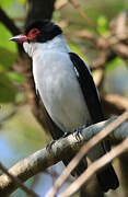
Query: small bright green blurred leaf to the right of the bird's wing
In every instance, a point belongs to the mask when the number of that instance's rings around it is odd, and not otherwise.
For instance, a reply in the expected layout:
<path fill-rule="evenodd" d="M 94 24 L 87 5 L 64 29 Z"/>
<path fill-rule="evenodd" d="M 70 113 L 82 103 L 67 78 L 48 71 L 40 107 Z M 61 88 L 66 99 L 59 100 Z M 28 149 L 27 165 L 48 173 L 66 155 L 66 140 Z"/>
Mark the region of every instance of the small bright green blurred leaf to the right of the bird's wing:
<path fill-rule="evenodd" d="M 124 60 L 121 58 L 116 57 L 114 60 L 112 60 L 110 62 L 106 63 L 105 69 L 106 70 L 110 70 L 110 69 L 114 69 L 114 68 L 118 67 L 119 65 L 121 66 L 125 62 L 124 62 Z"/>

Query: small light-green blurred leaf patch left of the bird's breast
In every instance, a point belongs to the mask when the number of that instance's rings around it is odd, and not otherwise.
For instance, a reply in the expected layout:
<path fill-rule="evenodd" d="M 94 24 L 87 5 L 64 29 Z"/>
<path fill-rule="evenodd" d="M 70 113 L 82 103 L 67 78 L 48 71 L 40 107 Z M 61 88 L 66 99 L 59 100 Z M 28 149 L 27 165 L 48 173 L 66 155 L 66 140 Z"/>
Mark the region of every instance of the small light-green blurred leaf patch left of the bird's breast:
<path fill-rule="evenodd" d="M 9 78 L 12 82 L 23 83 L 24 78 L 21 73 L 9 71 L 5 73 L 5 76 Z"/>

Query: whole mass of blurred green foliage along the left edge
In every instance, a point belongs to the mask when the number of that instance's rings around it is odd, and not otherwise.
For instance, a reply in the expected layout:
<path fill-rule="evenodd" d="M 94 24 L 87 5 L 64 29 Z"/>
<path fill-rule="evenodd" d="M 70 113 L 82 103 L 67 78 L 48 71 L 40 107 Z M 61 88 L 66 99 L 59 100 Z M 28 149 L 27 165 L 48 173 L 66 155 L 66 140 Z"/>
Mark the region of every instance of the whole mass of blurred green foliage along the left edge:
<path fill-rule="evenodd" d="M 0 103 L 15 102 L 16 91 L 13 82 L 23 82 L 23 77 L 13 71 L 11 67 L 16 60 L 16 46 L 9 42 L 9 30 L 0 24 Z"/>

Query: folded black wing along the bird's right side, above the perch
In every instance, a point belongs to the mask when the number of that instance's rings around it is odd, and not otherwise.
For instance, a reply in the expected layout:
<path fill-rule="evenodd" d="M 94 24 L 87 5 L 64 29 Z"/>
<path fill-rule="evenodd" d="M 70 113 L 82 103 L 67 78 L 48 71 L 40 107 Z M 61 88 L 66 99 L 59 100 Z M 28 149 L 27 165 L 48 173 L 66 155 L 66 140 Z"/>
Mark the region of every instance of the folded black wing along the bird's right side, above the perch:
<path fill-rule="evenodd" d="M 78 72 L 77 77 L 82 89 L 83 96 L 92 118 L 92 123 L 95 124 L 102 121 L 104 119 L 104 115 L 92 74 L 88 66 L 77 54 L 69 53 L 69 55 Z"/>

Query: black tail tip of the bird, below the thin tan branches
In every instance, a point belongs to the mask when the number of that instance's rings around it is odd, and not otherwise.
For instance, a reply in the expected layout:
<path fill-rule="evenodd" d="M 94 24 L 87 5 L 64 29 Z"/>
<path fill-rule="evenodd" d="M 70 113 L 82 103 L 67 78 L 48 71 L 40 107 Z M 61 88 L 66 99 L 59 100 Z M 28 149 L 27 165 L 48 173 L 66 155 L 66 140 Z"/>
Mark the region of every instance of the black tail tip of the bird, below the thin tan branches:
<path fill-rule="evenodd" d="M 119 186 L 118 177 L 112 164 L 108 164 L 103 171 L 97 173 L 97 179 L 102 190 L 105 193 Z"/>

